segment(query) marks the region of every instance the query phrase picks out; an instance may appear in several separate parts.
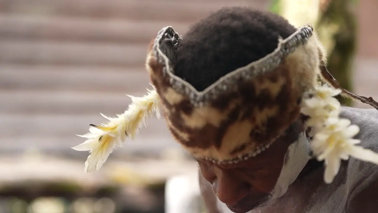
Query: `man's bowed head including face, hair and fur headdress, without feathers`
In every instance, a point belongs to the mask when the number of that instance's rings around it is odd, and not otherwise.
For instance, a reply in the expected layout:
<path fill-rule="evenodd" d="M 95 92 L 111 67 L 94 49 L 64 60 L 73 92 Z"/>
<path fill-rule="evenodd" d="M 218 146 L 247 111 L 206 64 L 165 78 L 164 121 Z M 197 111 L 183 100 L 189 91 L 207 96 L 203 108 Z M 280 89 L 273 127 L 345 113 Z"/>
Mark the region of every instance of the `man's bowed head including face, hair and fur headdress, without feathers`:
<path fill-rule="evenodd" d="M 302 149 L 303 161 L 290 168 L 299 171 L 282 169 L 304 132 L 300 104 L 319 70 L 312 28 L 235 7 L 182 39 L 170 28 L 159 33 L 147 69 L 167 126 L 218 198 L 244 212 L 285 193 L 308 159 Z"/>

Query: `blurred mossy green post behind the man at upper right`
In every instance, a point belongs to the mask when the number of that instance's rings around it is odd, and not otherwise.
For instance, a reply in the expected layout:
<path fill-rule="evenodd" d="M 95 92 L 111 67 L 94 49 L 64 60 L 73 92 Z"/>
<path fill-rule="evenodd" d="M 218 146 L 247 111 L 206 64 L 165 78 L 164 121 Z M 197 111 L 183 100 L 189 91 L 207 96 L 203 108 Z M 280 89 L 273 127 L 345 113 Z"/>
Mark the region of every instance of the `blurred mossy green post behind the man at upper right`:
<path fill-rule="evenodd" d="M 270 10 L 281 14 L 281 0 L 271 0 Z M 356 0 L 329 0 L 320 11 L 318 23 L 314 24 L 319 39 L 328 52 L 328 70 L 345 89 L 353 91 L 352 69 L 356 52 L 356 18 L 351 11 Z M 352 100 L 338 97 L 342 105 L 352 105 Z"/>

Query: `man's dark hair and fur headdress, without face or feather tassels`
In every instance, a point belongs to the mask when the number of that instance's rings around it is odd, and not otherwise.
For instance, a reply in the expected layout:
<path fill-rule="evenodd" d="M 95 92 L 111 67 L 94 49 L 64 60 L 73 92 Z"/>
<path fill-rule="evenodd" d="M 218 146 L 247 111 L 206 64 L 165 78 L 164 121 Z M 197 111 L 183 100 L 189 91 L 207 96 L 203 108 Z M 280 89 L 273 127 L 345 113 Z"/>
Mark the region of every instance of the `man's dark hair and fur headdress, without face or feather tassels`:
<path fill-rule="evenodd" d="M 274 14 L 227 8 L 183 41 L 170 27 L 158 33 L 147 70 L 170 132 L 195 158 L 254 157 L 299 118 L 320 60 L 312 27 L 295 29 Z"/>

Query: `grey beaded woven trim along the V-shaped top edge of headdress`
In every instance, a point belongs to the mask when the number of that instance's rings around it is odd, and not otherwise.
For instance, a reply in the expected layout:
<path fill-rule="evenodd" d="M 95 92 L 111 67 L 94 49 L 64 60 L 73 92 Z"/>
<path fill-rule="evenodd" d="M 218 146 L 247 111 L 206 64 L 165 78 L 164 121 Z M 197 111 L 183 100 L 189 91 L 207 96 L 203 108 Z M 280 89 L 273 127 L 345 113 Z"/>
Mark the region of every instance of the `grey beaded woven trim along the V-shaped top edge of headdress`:
<path fill-rule="evenodd" d="M 153 52 L 156 60 L 159 63 L 164 64 L 163 77 L 169 78 L 169 83 L 172 88 L 174 88 L 175 91 L 188 96 L 190 102 L 194 106 L 201 107 L 202 105 L 206 105 L 209 101 L 217 99 L 218 94 L 230 91 L 232 85 L 235 85 L 240 79 L 248 80 L 256 75 L 265 74 L 266 72 L 276 69 L 283 58 L 294 52 L 297 46 L 305 44 L 312 34 L 313 27 L 311 24 L 307 24 L 306 26 L 299 28 L 299 30 L 286 39 L 278 38 L 277 48 L 272 53 L 266 55 L 260 60 L 253 61 L 244 67 L 240 67 L 226 74 L 203 91 L 197 91 L 197 89 L 191 84 L 174 74 L 175 71 L 170 62 L 172 60 L 168 58 L 174 54 L 170 54 L 169 46 L 164 45 L 163 43 L 163 41 L 166 42 L 167 40 L 171 40 L 174 47 L 179 44 L 179 39 L 181 39 L 181 37 L 172 27 L 165 27 L 159 31 L 153 45 Z"/>

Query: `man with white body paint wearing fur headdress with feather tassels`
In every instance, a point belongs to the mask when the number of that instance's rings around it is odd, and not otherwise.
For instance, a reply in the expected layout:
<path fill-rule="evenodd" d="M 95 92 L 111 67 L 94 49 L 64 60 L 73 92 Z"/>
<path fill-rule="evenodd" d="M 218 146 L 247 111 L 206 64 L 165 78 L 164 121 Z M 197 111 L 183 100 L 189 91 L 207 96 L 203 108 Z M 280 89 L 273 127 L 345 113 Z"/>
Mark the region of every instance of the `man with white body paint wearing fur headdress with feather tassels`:
<path fill-rule="evenodd" d="M 74 147 L 92 151 L 85 171 L 99 169 L 159 109 L 198 161 L 209 212 L 378 211 L 378 112 L 341 107 L 333 96 L 377 103 L 339 86 L 311 25 L 224 8 L 182 38 L 159 31 L 146 67 L 154 90 L 91 125 Z"/>

